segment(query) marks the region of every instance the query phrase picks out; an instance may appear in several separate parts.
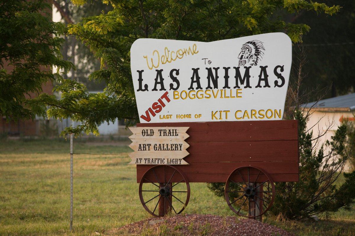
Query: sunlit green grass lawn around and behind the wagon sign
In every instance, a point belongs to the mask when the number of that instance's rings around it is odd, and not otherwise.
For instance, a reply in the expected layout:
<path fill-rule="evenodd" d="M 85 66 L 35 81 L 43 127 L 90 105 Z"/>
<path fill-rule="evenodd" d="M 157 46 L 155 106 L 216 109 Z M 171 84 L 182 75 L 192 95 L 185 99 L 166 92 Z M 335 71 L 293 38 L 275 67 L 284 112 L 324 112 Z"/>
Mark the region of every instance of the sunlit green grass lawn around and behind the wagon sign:
<path fill-rule="evenodd" d="M 118 143 L 74 140 L 73 152 L 127 154 Z M 69 141 L 0 140 L 0 235 L 91 235 L 150 217 L 128 156 L 74 155 L 73 229 L 69 231 Z M 191 183 L 184 213 L 233 215 L 206 184 Z M 296 235 L 355 235 L 355 209 L 318 222 L 278 222 Z"/>

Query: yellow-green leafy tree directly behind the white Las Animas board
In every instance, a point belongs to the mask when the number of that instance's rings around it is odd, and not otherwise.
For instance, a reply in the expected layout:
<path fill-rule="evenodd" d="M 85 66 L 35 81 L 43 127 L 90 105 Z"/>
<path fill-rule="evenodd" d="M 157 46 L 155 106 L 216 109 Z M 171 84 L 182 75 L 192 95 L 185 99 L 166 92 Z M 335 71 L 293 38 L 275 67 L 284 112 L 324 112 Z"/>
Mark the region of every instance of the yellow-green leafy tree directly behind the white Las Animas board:
<path fill-rule="evenodd" d="M 72 2 L 86 3 L 83 0 Z M 340 8 L 305 0 L 105 0 L 103 3 L 111 5 L 113 10 L 83 18 L 82 22 L 69 25 L 67 33 L 75 35 L 101 60 L 101 69 L 92 73 L 89 79 L 104 81 L 107 86 L 103 94 L 97 95 L 89 95 L 84 87 L 80 94 L 63 91 L 62 99 L 48 114 L 80 119 L 83 124 L 65 132 L 96 132 L 95 127 L 117 117 L 130 122 L 137 120 L 130 71 L 130 47 L 136 39 L 215 41 L 286 32 L 293 42 L 301 42 L 302 35 L 310 28 L 305 24 L 285 22 L 281 12 L 293 15 L 299 11 L 313 11 L 332 15 Z M 62 91 L 62 87 L 57 90 Z M 88 97 L 90 105 L 86 103 Z M 69 114 L 73 107 L 78 112 Z M 101 110 L 105 112 L 98 113 Z"/>

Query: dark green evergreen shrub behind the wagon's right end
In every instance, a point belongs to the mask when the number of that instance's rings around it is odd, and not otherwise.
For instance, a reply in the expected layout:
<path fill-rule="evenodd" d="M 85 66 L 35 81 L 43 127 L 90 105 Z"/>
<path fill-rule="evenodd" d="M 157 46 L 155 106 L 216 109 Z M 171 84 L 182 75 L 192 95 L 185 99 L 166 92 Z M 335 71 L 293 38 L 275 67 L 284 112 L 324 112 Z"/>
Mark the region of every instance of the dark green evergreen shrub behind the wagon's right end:
<path fill-rule="evenodd" d="M 335 183 L 342 174 L 346 154 L 346 126 L 338 127 L 331 140 L 319 150 L 315 149 L 313 133 L 308 133 L 307 119 L 295 111 L 299 121 L 299 182 L 279 182 L 276 185 L 275 202 L 271 214 L 286 219 L 304 219 L 312 215 L 329 215 L 340 208 L 348 209 L 355 202 L 355 171 L 344 173 L 345 182 Z M 224 197 L 223 183 L 209 183 L 208 188 Z"/>

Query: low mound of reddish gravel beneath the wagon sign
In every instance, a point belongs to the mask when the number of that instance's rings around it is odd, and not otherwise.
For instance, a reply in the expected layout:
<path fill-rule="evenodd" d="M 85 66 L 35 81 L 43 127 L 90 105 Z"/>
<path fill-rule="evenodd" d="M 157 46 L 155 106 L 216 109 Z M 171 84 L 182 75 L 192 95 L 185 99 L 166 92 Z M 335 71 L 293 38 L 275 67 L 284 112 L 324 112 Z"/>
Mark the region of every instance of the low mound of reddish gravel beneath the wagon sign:
<path fill-rule="evenodd" d="M 276 226 L 252 219 L 218 215 L 175 215 L 141 220 L 105 232 L 105 235 L 165 235 L 165 236 L 294 236 Z"/>

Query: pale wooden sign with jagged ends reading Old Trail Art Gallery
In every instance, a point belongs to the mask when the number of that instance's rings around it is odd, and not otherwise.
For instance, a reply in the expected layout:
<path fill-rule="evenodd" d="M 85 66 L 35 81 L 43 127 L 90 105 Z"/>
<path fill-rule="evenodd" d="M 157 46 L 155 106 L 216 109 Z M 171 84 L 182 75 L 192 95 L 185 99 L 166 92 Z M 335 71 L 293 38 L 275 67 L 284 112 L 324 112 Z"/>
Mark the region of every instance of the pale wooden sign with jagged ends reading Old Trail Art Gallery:
<path fill-rule="evenodd" d="M 129 156 L 130 165 L 188 165 L 182 160 L 189 155 L 189 147 L 184 140 L 189 127 L 131 127 L 132 143 L 129 145 L 134 152 Z"/>

